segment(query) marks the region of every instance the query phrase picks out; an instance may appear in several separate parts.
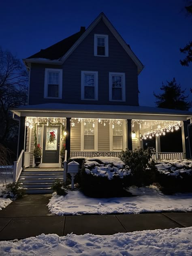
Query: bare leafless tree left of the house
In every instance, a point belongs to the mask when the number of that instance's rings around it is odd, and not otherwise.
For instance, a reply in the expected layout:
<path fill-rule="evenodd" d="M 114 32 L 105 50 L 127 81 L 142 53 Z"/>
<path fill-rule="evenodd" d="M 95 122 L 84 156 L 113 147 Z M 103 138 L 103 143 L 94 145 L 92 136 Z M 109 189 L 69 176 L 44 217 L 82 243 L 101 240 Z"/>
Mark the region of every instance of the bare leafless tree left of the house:
<path fill-rule="evenodd" d="M 25 105 L 27 85 L 28 72 L 21 60 L 0 47 L 0 143 L 4 145 L 18 132 L 9 108 Z"/>

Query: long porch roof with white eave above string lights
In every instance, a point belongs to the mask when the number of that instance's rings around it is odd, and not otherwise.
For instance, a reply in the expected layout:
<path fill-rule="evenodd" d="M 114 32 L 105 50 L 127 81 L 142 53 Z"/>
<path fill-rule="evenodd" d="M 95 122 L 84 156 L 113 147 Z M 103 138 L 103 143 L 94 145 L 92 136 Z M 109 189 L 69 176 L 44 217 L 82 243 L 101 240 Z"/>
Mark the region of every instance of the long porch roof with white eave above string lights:
<path fill-rule="evenodd" d="M 87 114 L 92 113 L 92 118 L 102 118 L 102 115 L 105 115 L 103 118 L 106 118 L 106 114 L 110 115 L 108 118 L 118 119 L 139 119 L 143 117 L 148 118 L 150 115 L 153 116 L 152 119 L 155 118 L 154 115 L 159 116 L 161 119 L 164 117 L 166 117 L 166 119 L 168 117 L 172 117 L 171 119 L 177 117 L 175 120 L 179 120 L 178 118 L 180 118 L 180 120 L 186 120 L 192 117 L 192 112 L 189 111 L 126 105 L 46 103 L 40 105 L 20 106 L 17 108 L 10 108 L 10 110 L 19 116 L 49 116 L 52 114 L 54 116 L 57 115 L 58 117 L 61 117 L 61 115 L 64 117 L 79 117 L 79 115 L 84 114 L 82 117 L 86 117 Z M 121 117 L 119 115 L 121 115 Z M 128 115 L 131 117 L 128 117 Z"/>

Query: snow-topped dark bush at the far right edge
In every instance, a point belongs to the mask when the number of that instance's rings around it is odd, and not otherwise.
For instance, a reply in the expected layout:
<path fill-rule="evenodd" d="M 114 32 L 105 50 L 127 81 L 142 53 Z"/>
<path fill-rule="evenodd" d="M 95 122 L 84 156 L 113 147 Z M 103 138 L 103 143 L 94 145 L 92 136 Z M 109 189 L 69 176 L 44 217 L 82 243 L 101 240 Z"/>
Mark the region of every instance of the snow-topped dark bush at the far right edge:
<path fill-rule="evenodd" d="M 191 160 L 162 160 L 156 168 L 156 182 L 164 194 L 192 192 Z"/>

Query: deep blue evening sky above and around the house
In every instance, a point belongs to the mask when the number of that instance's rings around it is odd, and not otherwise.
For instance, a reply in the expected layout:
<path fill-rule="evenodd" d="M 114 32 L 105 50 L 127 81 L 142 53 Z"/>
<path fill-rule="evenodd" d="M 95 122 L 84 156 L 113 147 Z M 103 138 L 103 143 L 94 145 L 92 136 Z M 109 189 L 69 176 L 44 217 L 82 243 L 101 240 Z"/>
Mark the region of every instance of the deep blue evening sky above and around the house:
<path fill-rule="evenodd" d="M 192 64 L 183 67 L 179 47 L 192 40 L 186 0 L 5 0 L 0 4 L 0 46 L 27 58 L 87 26 L 104 12 L 145 65 L 139 104 L 155 106 L 153 91 L 175 77 L 190 94 Z M 191 98 L 191 94 L 190 94 Z"/>

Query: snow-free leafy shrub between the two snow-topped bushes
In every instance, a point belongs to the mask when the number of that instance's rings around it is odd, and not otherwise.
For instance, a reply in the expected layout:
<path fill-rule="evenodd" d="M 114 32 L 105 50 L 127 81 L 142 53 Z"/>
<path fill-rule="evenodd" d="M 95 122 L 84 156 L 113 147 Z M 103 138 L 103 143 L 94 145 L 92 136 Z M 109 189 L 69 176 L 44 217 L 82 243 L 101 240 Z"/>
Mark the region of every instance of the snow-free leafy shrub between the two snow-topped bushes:
<path fill-rule="evenodd" d="M 149 186 L 155 181 L 156 167 L 151 156 L 151 149 L 122 150 L 120 159 L 131 169 L 132 185 Z"/>

